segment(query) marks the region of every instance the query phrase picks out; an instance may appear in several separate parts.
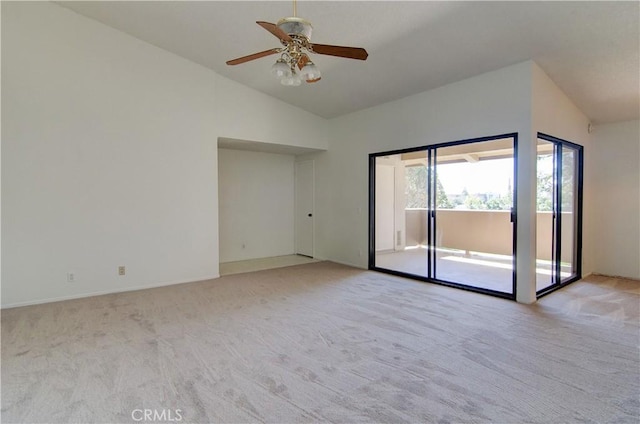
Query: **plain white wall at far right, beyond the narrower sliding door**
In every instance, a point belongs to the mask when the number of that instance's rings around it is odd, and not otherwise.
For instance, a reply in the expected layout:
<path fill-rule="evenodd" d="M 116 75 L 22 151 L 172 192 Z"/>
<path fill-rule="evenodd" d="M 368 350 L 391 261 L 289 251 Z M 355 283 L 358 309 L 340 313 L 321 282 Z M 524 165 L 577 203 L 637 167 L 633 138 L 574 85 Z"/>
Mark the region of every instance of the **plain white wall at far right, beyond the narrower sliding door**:
<path fill-rule="evenodd" d="M 593 271 L 640 279 L 640 121 L 592 136 Z"/>

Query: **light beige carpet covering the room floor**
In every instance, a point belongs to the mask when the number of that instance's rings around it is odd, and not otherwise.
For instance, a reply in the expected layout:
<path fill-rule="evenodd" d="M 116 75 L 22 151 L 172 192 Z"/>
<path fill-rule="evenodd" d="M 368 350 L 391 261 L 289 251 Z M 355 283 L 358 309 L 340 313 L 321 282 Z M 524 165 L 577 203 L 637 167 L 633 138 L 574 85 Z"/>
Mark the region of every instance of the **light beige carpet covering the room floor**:
<path fill-rule="evenodd" d="M 639 300 L 591 277 L 526 306 L 320 262 L 8 309 L 1 419 L 638 423 Z"/>

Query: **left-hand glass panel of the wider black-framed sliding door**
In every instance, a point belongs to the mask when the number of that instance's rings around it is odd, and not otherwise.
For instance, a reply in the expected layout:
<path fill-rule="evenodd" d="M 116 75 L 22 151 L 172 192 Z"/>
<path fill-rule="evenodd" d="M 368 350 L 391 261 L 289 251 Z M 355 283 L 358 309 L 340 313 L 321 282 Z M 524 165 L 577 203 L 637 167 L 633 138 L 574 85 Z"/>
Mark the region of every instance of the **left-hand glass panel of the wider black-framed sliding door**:
<path fill-rule="evenodd" d="M 376 158 L 375 266 L 428 276 L 427 151 Z"/>

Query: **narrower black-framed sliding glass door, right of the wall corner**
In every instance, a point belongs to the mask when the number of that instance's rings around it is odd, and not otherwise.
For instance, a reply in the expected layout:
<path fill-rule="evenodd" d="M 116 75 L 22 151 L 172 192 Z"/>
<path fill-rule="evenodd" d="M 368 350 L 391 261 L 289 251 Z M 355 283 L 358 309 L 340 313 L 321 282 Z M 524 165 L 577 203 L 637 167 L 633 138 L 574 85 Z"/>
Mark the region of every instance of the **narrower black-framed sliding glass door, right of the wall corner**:
<path fill-rule="evenodd" d="M 581 277 L 582 146 L 538 134 L 538 296 Z"/>

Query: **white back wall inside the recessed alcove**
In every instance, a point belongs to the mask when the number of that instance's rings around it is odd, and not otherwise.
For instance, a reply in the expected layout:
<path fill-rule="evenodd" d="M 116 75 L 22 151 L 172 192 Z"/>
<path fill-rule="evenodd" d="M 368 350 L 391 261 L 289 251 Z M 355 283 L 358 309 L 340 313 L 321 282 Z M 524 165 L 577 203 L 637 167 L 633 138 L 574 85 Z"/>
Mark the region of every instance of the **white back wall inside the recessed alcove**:
<path fill-rule="evenodd" d="M 220 262 L 294 253 L 294 156 L 220 149 Z"/>

